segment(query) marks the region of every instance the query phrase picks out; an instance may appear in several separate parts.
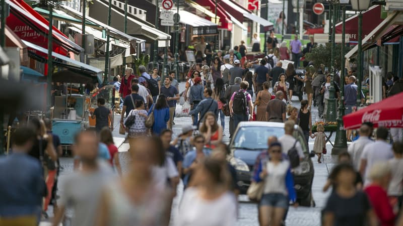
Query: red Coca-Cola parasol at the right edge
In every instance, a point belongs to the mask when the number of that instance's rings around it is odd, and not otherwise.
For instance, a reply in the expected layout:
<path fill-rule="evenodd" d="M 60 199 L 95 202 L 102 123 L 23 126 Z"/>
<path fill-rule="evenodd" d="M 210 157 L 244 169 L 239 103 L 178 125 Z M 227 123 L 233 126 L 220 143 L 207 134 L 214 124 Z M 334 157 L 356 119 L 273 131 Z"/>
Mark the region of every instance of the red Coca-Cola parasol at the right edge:
<path fill-rule="evenodd" d="M 346 130 L 357 129 L 364 122 L 374 127 L 403 128 L 403 92 L 373 103 L 343 117 Z"/>

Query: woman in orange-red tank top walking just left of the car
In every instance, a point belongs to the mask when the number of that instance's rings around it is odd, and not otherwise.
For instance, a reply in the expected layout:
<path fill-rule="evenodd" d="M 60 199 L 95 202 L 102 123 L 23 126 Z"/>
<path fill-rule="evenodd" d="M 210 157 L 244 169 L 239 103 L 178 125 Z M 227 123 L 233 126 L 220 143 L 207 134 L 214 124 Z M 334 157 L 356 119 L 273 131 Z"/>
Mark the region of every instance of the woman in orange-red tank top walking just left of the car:
<path fill-rule="evenodd" d="M 217 124 L 214 113 L 206 113 L 203 125 L 200 127 L 200 133 L 206 139 L 206 147 L 214 149 L 216 145 L 221 144 L 223 140 L 223 128 Z"/>

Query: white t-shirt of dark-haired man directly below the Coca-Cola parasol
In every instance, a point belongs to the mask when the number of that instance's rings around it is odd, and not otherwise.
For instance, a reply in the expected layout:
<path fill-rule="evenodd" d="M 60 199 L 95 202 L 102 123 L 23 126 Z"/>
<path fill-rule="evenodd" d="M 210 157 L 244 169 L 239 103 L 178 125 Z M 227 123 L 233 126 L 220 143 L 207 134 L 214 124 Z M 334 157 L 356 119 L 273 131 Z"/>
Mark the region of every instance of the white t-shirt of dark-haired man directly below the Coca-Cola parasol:
<path fill-rule="evenodd" d="M 372 166 L 377 162 L 386 162 L 391 158 L 393 158 L 392 146 L 385 141 L 377 140 L 374 143 L 364 147 L 364 151 L 361 155 L 361 159 L 367 160 L 367 167 L 365 168 L 364 175 L 364 186 L 371 183 L 371 180 L 368 178 L 368 174 Z"/>

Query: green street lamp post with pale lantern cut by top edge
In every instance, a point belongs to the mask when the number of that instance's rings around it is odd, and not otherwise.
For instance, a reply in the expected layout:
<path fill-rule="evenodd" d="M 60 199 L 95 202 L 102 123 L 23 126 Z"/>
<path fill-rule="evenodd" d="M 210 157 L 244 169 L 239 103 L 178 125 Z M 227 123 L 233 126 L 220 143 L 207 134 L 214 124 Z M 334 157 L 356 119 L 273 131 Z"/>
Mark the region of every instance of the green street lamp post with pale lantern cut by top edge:
<path fill-rule="evenodd" d="M 370 0 L 351 0 L 351 8 L 358 13 L 358 57 L 357 57 L 357 72 L 358 72 L 358 93 L 357 105 L 361 105 L 361 83 L 363 79 L 363 65 L 362 65 L 362 11 L 368 9 Z"/>

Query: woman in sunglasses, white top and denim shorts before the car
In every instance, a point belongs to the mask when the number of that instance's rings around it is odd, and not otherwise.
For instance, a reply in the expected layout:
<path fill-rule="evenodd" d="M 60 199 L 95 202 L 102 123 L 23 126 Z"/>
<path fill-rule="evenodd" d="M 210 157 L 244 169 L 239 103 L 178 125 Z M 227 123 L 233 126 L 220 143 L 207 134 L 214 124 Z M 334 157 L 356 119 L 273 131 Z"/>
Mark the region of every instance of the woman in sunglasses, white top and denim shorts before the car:
<path fill-rule="evenodd" d="M 296 193 L 290 162 L 282 155 L 282 147 L 274 142 L 268 148 L 269 159 L 260 162 L 254 181 L 263 181 L 259 215 L 262 225 L 280 226 L 289 201 L 295 203 Z"/>

